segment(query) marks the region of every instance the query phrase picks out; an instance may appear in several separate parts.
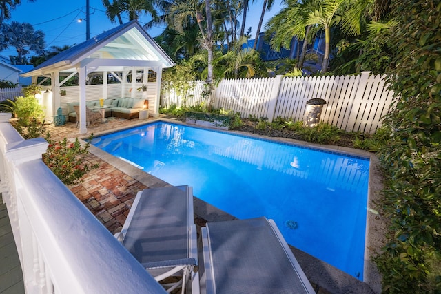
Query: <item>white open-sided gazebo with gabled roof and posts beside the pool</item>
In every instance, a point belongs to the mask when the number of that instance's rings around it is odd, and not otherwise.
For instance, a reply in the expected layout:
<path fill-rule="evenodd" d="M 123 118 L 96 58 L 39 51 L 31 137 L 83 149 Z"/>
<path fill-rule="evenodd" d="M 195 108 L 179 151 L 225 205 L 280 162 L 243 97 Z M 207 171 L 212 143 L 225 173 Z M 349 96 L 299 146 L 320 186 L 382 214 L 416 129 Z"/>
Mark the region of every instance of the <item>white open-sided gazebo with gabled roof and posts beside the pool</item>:
<path fill-rule="evenodd" d="M 44 87 L 47 91 L 42 94 L 46 118 L 54 116 L 59 107 L 64 111 L 68 102 L 79 101 L 79 133 L 85 134 L 85 105 L 88 100 L 143 95 L 149 100 L 150 113 L 157 116 L 162 69 L 173 65 L 174 61 L 141 25 L 137 21 L 130 21 L 74 45 L 21 76 L 32 77 L 32 83 L 37 83 L 38 78 L 43 76 L 40 85 L 50 78 L 50 86 Z M 90 85 L 89 76 L 94 72 L 102 74 L 101 86 Z M 154 73 L 156 81 L 148 77 L 149 72 Z M 62 87 L 77 74 L 78 85 Z M 117 82 L 116 86 L 107 84 L 109 77 Z M 147 87 L 147 92 L 136 92 L 141 85 Z M 68 91 L 70 94 L 61 96 L 61 87 L 72 88 Z"/>

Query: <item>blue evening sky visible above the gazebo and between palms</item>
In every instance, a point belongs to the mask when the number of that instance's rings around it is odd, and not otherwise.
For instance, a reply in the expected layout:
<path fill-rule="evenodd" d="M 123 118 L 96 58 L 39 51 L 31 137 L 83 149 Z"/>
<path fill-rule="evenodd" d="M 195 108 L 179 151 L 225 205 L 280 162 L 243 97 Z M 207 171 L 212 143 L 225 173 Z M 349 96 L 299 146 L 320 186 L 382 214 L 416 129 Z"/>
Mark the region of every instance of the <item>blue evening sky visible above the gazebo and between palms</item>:
<path fill-rule="evenodd" d="M 260 19 L 263 0 L 250 2 L 250 10 L 247 14 L 246 28 L 252 27 L 252 39 L 256 34 L 256 28 Z M 73 45 L 85 41 L 85 21 L 79 23 L 78 19 L 85 19 L 85 0 L 80 1 L 60 1 L 60 0 L 36 0 L 29 3 L 22 0 L 17 9 L 12 10 L 10 21 L 20 23 L 27 22 L 34 26 L 35 30 L 42 30 L 45 33 L 46 48 L 57 45 Z M 265 12 L 265 19 L 261 32 L 265 30 L 265 22 L 279 10 L 279 3 L 274 3 L 274 8 L 270 12 Z M 241 17 L 240 17 L 241 19 Z M 149 21 L 149 17 L 143 16 L 139 19 L 141 25 Z M 123 21 L 128 21 L 127 15 L 123 16 Z M 105 16 L 105 8 L 101 0 L 90 0 L 90 37 L 101 34 L 110 28 L 114 28 L 118 23 L 111 23 Z M 153 27 L 148 30 L 150 36 L 158 36 L 164 27 Z M 0 52 L 3 56 L 17 56 L 15 48 L 8 48 Z M 34 55 L 34 52 L 28 54 Z"/>

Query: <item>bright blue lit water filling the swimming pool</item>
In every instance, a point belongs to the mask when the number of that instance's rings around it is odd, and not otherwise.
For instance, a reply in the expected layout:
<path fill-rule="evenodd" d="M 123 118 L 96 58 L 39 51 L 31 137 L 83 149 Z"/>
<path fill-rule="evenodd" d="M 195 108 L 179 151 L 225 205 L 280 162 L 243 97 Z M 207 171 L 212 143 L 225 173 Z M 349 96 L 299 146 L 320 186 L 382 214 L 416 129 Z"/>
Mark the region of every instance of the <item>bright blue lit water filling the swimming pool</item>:
<path fill-rule="evenodd" d="M 153 123 L 92 144 L 237 218 L 272 218 L 287 242 L 362 280 L 369 160 Z"/>

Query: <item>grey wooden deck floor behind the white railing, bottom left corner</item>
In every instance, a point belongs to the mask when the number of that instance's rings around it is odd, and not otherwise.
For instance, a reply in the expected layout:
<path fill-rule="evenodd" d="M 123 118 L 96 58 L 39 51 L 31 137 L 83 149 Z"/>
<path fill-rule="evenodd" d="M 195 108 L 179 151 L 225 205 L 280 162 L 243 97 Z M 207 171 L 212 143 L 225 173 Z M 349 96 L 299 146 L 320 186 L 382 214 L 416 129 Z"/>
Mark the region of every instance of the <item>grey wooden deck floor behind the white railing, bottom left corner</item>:
<path fill-rule="evenodd" d="M 8 218 L 0 196 L 0 294 L 25 293 L 23 274 Z"/>

